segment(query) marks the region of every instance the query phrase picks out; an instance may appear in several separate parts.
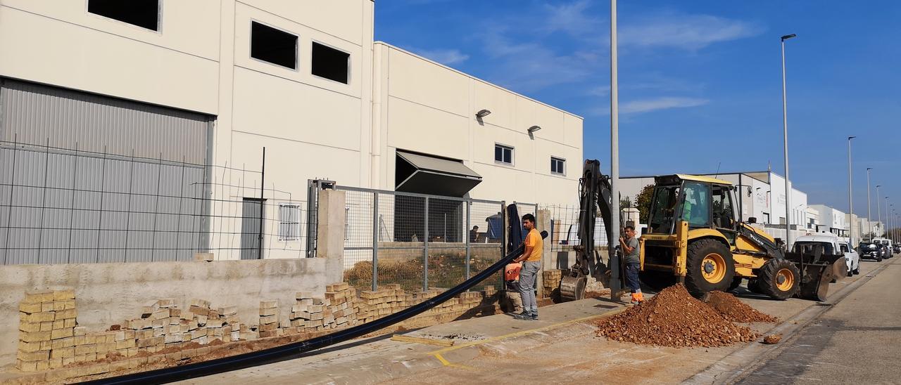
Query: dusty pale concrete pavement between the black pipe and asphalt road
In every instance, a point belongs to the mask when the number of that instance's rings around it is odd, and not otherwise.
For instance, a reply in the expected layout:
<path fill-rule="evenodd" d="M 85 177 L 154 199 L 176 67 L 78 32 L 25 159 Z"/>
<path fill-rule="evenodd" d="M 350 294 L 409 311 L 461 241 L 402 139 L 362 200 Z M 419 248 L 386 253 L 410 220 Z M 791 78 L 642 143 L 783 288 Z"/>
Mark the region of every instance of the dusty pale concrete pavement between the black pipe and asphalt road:
<path fill-rule="evenodd" d="M 882 264 L 862 264 L 860 275 L 834 283 L 832 292 L 852 285 Z M 893 266 L 898 267 L 901 266 Z M 791 324 L 793 317 L 816 306 L 814 301 L 769 300 L 750 292 L 744 292 L 740 298 L 752 307 L 780 318 L 781 327 L 790 326 L 785 324 Z M 620 309 L 622 306 L 614 302 L 592 299 L 542 308 L 542 320 L 537 322 L 517 321 L 505 315 L 471 318 L 405 332 L 408 336 L 455 338 L 456 345 L 451 348 L 396 342 L 383 336 L 350 341 L 294 360 L 186 383 L 672 383 L 692 378 L 742 349 L 760 345 L 709 349 L 632 345 L 596 337 L 595 327 L 585 321 L 585 318 L 596 318 Z M 751 324 L 751 327 L 764 333 L 774 326 Z"/>

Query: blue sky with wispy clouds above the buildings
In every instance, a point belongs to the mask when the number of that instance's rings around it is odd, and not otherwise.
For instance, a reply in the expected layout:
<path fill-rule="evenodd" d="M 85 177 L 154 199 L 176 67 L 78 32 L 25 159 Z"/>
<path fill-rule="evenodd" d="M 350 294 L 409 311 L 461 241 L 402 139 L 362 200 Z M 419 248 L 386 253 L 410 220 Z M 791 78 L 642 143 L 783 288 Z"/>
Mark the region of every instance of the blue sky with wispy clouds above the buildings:
<path fill-rule="evenodd" d="M 810 203 L 866 213 L 866 167 L 901 212 L 901 2 L 621 1 L 621 175 L 789 172 Z M 585 117 L 609 165 L 609 2 L 380 0 L 376 39 Z M 875 196 L 875 190 L 873 191 Z M 875 198 L 874 198 L 875 199 Z M 884 200 L 884 198 L 883 198 Z M 875 218 L 876 203 L 873 203 Z"/>

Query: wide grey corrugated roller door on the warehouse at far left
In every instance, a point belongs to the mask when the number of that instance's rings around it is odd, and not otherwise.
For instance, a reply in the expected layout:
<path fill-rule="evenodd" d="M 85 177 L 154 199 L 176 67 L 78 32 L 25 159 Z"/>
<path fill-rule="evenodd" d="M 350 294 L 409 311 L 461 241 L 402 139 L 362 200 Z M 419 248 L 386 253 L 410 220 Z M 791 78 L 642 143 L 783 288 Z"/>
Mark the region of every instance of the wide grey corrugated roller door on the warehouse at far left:
<path fill-rule="evenodd" d="M 0 264 L 191 259 L 212 119 L 0 79 Z"/>

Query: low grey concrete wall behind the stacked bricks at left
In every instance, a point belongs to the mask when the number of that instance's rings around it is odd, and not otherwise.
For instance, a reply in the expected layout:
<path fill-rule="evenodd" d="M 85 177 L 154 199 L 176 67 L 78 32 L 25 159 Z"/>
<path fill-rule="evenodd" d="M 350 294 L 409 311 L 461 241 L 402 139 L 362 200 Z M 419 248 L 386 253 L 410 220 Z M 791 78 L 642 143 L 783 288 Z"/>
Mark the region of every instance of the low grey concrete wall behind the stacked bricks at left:
<path fill-rule="evenodd" d="M 141 305 L 161 298 L 210 300 L 214 308 L 238 307 L 241 322 L 259 322 L 259 301 L 278 300 L 290 309 L 296 291 L 322 296 L 325 285 L 341 282 L 341 257 L 216 262 L 129 264 L 15 264 L 0 266 L 0 366 L 14 364 L 19 302 L 25 291 L 74 289 L 77 323 L 105 330 L 141 317 Z M 287 311 L 282 316 L 287 320 Z"/>

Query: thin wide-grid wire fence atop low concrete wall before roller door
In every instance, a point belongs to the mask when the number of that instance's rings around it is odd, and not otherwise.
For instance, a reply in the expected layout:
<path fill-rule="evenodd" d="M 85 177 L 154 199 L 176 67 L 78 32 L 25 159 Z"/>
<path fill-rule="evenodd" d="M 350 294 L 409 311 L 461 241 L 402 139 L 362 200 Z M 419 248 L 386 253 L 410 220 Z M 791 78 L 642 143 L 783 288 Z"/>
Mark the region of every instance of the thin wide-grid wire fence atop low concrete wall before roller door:
<path fill-rule="evenodd" d="M 0 142 L 0 264 L 303 256 L 305 204 L 264 175 Z"/>

